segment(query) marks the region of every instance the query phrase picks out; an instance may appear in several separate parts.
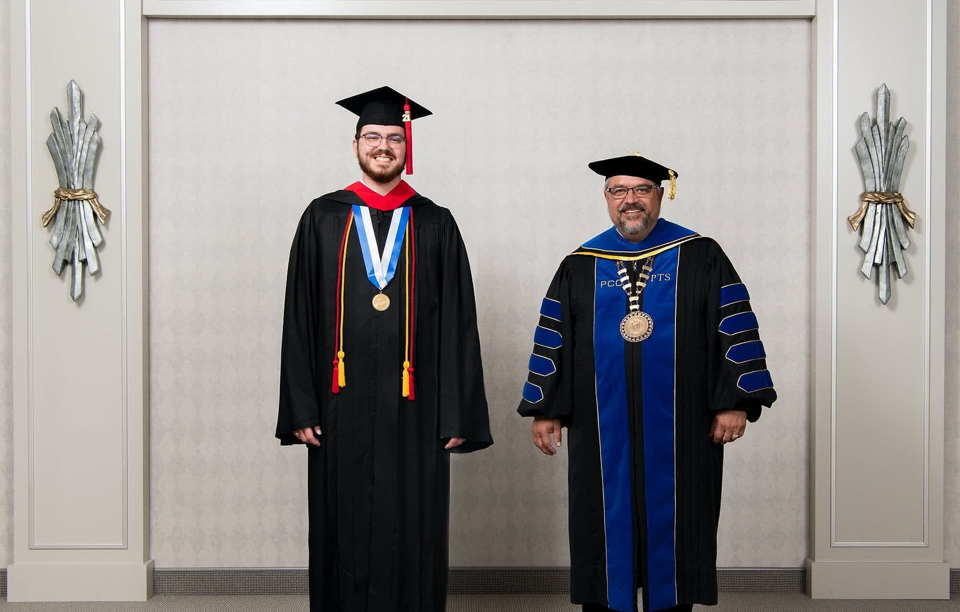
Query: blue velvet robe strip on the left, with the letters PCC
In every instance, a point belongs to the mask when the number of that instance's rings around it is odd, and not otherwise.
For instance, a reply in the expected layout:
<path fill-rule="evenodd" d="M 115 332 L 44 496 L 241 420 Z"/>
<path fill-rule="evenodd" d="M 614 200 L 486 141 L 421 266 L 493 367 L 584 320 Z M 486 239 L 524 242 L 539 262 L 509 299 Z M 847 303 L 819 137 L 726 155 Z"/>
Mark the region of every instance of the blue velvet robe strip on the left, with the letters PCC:
<path fill-rule="evenodd" d="M 633 485 L 625 341 L 620 336 L 620 319 L 627 314 L 627 295 L 619 287 L 599 286 L 601 279 L 616 277 L 615 262 L 596 260 L 593 354 L 607 544 L 607 605 L 614 610 L 631 612 L 636 601 Z"/>

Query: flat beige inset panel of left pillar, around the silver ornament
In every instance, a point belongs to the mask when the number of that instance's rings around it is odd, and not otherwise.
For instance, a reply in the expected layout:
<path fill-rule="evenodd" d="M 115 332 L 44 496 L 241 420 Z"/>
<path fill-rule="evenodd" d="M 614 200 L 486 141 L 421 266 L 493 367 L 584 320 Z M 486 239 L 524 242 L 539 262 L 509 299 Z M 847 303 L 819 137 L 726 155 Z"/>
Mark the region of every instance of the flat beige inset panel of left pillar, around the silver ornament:
<path fill-rule="evenodd" d="M 97 17 L 93 15 L 97 14 Z M 31 3 L 32 23 L 70 23 L 93 19 L 119 29 L 119 12 L 113 3 L 64 4 L 56 0 Z M 58 50 L 49 42 L 31 50 L 32 82 L 31 133 L 50 130 L 50 111 L 59 106 L 66 112 L 66 84 L 76 80 L 84 91 L 84 115 L 102 118 L 100 133 L 104 148 L 97 164 L 95 187 L 100 200 L 113 209 L 114 217 L 104 233 L 100 249 L 102 272 L 84 278 L 82 303 L 69 297 L 69 268 L 58 278 L 50 271 L 53 249 L 47 243 L 49 229 L 31 226 L 31 257 L 36 278 L 31 314 L 33 407 L 31 501 L 33 543 L 121 544 L 123 526 L 124 410 L 121 377 L 123 357 L 121 258 L 118 234 L 110 226 L 119 222 L 120 99 L 115 93 L 120 64 L 116 61 L 113 36 L 90 36 L 83 67 L 62 61 L 72 42 L 64 38 Z M 38 44 L 35 42 L 34 44 Z M 45 137 L 45 136 L 44 136 Z M 32 148 L 34 177 L 33 212 L 36 215 L 53 203 L 57 187 L 50 153 L 42 140 Z M 70 330 L 65 332 L 65 330 Z M 80 359 L 77 366 L 64 366 Z M 111 410 L 85 410 L 87 406 Z M 64 461 L 64 457 L 74 460 Z M 92 478 L 91 478 L 92 477 Z"/>

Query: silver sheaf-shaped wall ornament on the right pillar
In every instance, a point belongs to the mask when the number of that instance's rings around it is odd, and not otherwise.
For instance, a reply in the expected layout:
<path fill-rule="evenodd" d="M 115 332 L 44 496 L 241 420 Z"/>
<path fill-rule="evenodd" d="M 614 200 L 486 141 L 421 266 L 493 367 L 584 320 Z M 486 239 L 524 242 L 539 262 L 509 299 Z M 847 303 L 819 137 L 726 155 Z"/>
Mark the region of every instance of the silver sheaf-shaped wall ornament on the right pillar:
<path fill-rule="evenodd" d="M 910 246 L 906 226 L 913 228 L 917 215 L 907 208 L 900 194 L 903 161 L 910 148 L 903 117 L 893 124 L 890 116 L 890 90 L 886 84 L 876 92 L 876 121 L 867 113 L 860 115 L 860 141 L 856 156 L 860 159 L 864 192 L 860 209 L 847 220 L 856 231 L 863 225 L 859 247 L 863 250 L 860 271 L 870 278 L 877 268 L 877 294 L 884 304 L 890 299 L 890 269 L 897 268 L 900 278 L 906 276 L 903 251 Z"/>

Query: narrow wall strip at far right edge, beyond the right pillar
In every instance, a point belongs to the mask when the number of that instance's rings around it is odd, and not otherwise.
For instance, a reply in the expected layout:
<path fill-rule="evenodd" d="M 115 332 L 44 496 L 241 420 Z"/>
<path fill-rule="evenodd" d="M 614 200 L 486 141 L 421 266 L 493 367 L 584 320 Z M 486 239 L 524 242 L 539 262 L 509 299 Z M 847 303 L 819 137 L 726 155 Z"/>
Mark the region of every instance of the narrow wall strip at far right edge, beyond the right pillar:
<path fill-rule="evenodd" d="M 944 555 L 960 567 L 960 4 L 947 4 L 947 363 L 945 367 Z"/>

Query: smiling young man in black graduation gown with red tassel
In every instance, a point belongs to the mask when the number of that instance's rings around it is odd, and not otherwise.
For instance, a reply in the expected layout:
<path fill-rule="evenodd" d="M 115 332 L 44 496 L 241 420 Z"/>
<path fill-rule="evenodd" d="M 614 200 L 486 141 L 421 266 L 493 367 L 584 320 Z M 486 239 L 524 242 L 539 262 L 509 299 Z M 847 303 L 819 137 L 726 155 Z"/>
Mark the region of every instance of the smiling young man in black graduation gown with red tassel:
<path fill-rule="evenodd" d="M 337 104 L 363 178 L 300 218 L 276 424 L 308 449 L 310 609 L 444 610 L 449 454 L 492 444 L 467 251 L 400 178 L 430 111 L 390 87 Z"/>

